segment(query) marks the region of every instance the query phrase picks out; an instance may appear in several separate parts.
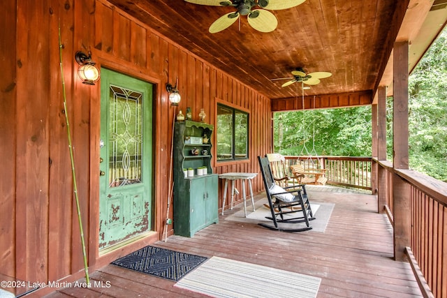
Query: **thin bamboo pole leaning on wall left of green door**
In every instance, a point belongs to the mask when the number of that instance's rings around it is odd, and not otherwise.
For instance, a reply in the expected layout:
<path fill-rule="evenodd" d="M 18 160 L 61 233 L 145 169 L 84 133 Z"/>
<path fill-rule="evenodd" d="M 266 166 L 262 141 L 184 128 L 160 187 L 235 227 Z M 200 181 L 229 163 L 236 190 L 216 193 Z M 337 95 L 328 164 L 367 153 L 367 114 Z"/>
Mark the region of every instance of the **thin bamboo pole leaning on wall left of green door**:
<path fill-rule="evenodd" d="M 80 231 L 80 237 L 81 237 L 81 243 L 82 243 L 82 256 L 84 258 L 85 281 L 87 282 L 87 285 L 89 285 L 89 283 L 90 283 L 89 267 L 87 265 L 87 253 L 85 251 L 84 230 L 82 229 L 82 218 L 81 218 L 81 211 L 80 211 L 79 198 L 78 198 L 78 184 L 76 183 L 75 159 L 73 156 L 73 146 L 71 144 L 70 122 L 68 121 L 64 69 L 62 68 L 62 47 L 63 46 L 61 43 L 61 25 L 59 24 L 59 65 L 61 67 L 62 94 L 64 96 L 64 111 L 65 111 L 65 120 L 66 120 L 66 127 L 67 127 L 68 150 L 70 151 L 71 174 L 73 177 L 73 191 L 75 193 L 76 209 L 78 211 L 78 223 L 79 223 L 79 231 Z"/>

